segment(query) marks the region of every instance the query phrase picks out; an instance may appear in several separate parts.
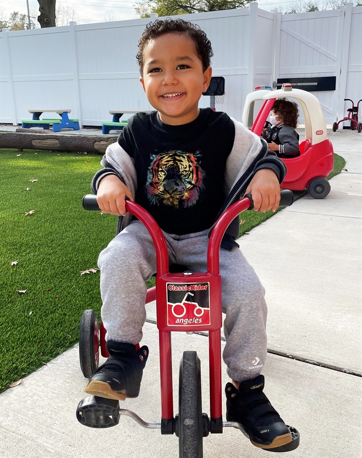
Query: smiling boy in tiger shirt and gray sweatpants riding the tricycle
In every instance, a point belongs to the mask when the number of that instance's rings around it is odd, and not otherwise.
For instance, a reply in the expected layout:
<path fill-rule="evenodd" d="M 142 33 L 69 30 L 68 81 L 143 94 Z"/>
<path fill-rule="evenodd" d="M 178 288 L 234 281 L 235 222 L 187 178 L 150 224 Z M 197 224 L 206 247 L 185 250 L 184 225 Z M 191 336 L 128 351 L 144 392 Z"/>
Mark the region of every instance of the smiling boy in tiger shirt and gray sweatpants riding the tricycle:
<path fill-rule="evenodd" d="M 199 109 L 212 69 L 211 43 L 181 19 L 147 25 L 137 59 L 140 81 L 156 109 L 138 113 L 108 147 L 92 182 L 102 211 L 118 215 L 118 235 L 100 256 L 102 320 L 109 358 L 85 392 L 111 399 L 138 396 L 148 348 L 139 348 L 145 322 L 145 280 L 156 272 L 156 251 L 143 224 L 126 215 L 125 197 L 162 228 L 170 264 L 206 271 L 210 227 L 231 201 L 251 193 L 259 212 L 275 211 L 285 166 L 266 143 L 226 113 Z M 253 177 L 251 179 L 251 177 Z M 233 197 L 235 199 L 235 196 Z M 251 442 L 274 448 L 291 441 L 263 393 L 266 359 L 264 289 L 235 239 L 238 219 L 220 250 L 224 329 L 223 359 L 228 418 L 242 423 Z"/>

